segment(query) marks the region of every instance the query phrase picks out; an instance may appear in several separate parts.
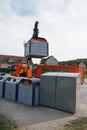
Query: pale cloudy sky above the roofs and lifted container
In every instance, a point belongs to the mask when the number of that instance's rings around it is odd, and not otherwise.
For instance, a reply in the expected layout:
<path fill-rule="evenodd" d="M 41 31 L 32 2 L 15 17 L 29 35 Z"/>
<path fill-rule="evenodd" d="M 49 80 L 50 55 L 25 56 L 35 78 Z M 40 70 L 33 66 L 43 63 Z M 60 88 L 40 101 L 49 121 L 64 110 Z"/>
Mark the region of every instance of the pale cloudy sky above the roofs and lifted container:
<path fill-rule="evenodd" d="M 87 0 L 0 0 L 0 54 L 24 56 L 37 20 L 49 56 L 87 58 Z"/>

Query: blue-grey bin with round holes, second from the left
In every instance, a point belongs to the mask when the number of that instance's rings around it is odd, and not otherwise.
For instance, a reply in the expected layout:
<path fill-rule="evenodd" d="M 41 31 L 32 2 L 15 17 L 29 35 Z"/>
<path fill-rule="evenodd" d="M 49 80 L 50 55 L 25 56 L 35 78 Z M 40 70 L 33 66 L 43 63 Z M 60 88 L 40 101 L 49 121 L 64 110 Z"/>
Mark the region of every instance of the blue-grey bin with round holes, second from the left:
<path fill-rule="evenodd" d="M 5 80 L 5 94 L 4 98 L 16 101 L 17 96 L 17 78 L 10 76 Z"/>

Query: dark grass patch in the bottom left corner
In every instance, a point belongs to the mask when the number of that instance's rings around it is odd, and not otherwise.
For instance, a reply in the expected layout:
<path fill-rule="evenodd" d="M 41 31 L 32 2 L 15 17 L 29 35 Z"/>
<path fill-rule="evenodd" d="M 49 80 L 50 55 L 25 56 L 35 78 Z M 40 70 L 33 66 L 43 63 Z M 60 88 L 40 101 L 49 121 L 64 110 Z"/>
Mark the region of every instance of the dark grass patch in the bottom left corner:
<path fill-rule="evenodd" d="M 14 130 L 16 126 L 0 114 L 0 130 Z"/>

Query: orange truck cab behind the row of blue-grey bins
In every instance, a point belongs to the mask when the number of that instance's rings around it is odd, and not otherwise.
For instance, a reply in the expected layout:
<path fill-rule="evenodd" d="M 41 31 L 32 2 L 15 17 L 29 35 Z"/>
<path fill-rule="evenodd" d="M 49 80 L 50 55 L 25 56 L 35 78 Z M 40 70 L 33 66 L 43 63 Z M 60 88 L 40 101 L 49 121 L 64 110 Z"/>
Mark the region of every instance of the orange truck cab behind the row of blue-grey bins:
<path fill-rule="evenodd" d="M 11 76 L 31 78 L 32 66 L 29 68 L 27 64 L 13 64 L 11 67 Z"/>

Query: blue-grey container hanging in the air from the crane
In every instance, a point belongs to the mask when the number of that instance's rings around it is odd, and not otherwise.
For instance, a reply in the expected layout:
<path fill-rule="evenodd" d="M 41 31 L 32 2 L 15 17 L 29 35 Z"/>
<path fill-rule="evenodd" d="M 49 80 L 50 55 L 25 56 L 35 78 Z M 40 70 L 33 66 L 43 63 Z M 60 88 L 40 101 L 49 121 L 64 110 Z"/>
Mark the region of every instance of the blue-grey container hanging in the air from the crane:
<path fill-rule="evenodd" d="M 48 43 L 47 42 L 36 42 L 34 40 L 29 40 L 25 43 L 24 48 L 25 56 L 28 57 L 46 57 L 48 56 Z"/>

